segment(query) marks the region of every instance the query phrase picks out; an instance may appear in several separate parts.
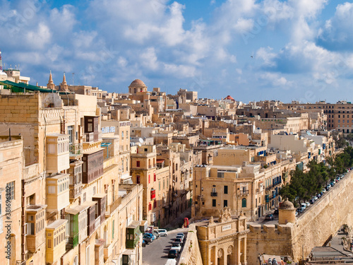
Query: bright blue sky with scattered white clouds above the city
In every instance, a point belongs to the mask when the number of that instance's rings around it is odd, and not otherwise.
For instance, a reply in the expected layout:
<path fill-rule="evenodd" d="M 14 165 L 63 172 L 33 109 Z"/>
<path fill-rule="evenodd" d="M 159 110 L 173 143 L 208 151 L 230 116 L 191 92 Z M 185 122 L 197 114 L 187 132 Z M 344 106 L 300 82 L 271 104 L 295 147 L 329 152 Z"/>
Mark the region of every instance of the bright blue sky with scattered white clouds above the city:
<path fill-rule="evenodd" d="M 31 83 L 199 98 L 352 99 L 353 3 L 330 0 L 0 0 L 3 64 Z M 74 73 L 74 74 L 73 74 Z"/>

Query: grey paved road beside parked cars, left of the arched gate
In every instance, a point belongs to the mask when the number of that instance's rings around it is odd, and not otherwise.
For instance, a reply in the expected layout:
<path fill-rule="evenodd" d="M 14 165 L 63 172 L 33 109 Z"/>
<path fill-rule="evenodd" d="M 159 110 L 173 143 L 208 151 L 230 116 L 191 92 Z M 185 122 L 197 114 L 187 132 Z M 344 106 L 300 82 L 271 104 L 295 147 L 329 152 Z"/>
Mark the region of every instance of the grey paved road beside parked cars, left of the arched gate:
<path fill-rule="evenodd" d="M 188 228 L 178 228 L 168 232 L 167 237 L 159 237 L 142 249 L 143 265 L 164 265 L 168 259 L 168 252 L 178 232 L 188 232 Z M 186 234 L 185 234 L 186 235 Z M 182 251 L 182 249 L 181 249 Z M 179 257 L 177 259 L 179 261 Z"/>

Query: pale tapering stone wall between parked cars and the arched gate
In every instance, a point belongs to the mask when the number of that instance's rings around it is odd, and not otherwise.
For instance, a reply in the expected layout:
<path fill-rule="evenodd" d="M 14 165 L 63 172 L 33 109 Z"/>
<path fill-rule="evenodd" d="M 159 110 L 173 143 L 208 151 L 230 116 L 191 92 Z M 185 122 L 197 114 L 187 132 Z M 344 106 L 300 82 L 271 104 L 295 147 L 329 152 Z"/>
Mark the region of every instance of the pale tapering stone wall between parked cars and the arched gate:
<path fill-rule="evenodd" d="M 189 232 L 186 235 L 186 242 L 181 252 L 179 265 L 200 265 L 202 264 L 201 252 L 198 247 L 196 225 L 189 225 Z"/>

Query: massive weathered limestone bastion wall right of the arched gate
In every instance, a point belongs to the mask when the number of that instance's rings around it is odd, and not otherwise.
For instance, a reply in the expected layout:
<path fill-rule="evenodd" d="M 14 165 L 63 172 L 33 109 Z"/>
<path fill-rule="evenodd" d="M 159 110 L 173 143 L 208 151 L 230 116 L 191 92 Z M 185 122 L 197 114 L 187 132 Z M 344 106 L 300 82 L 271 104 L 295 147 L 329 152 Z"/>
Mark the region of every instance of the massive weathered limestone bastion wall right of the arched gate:
<path fill-rule="evenodd" d="M 306 259 L 313 247 L 323 246 L 343 224 L 353 225 L 353 173 L 349 172 L 325 196 L 311 205 L 296 222 L 287 225 L 249 225 L 247 261 L 259 254 Z"/>

